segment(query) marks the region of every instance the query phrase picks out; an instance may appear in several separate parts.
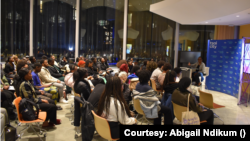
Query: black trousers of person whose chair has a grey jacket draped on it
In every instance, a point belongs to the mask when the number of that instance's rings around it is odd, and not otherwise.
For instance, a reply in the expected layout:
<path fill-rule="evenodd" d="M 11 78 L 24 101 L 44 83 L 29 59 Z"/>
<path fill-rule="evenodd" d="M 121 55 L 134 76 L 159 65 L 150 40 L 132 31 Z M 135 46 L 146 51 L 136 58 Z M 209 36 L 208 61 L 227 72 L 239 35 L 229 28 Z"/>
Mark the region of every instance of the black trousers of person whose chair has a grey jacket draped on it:
<path fill-rule="evenodd" d="M 161 116 L 164 114 L 164 125 L 173 125 L 172 113 L 170 108 L 161 105 L 158 118 L 154 119 L 154 125 L 161 125 Z"/>

